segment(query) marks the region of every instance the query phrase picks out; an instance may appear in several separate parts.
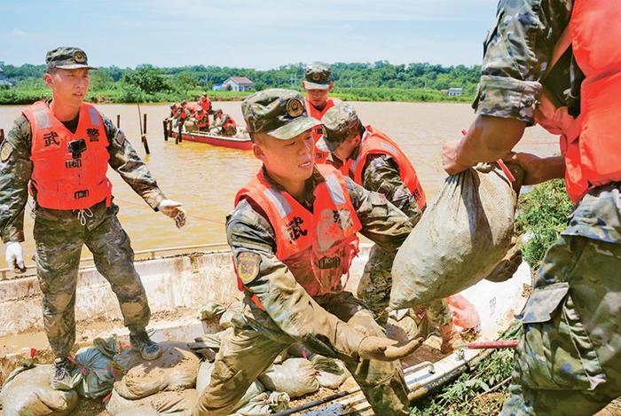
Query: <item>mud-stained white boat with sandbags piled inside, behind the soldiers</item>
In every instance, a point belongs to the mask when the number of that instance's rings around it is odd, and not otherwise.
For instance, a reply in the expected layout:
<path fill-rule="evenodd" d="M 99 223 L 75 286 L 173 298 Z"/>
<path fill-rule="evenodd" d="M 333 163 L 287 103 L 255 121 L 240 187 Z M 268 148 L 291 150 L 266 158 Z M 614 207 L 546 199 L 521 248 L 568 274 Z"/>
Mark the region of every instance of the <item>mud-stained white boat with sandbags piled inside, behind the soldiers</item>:
<path fill-rule="evenodd" d="M 137 252 L 136 269 L 149 298 L 153 318 L 149 325 L 154 341 L 193 341 L 203 334 L 216 333 L 217 322 L 200 320 L 197 310 L 208 302 L 231 305 L 243 295 L 232 270 L 231 252 L 224 244 L 171 247 Z M 361 245 L 352 263 L 347 290 L 355 293 L 368 258 L 370 245 Z M 140 259 L 140 257 L 143 257 Z M 146 258 L 145 258 L 146 257 Z M 78 344 L 118 334 L 127 339 L 122 315 L 107 283 L 85 259 L 79 271 L 75 302 Z M 41 314 L 42 294 L 32 266 L 24 275 L 0 271 L 0 382 L 20 361 L 29 357 L 32 348 L 47 349 Z M 482 280 L 462 291 L 480 317 L 477 341 L 493 341 L 507 330 L 515 315 L 523 310 L 530 294 L 531 270 L 523 263 L 514 277 L 505 282 Z M 429 391 L 452 381 L 489 353 L 485 349 L 460 349 L 447 357 L 417 357 L 404 360 L 405 381 L 410 398 L 425 396 Z M 43 355 L 44 356 L 44 355 Z M 334 393 L 326 391 L 322 400 L 307 400 L 281 414 L 304 413 L 334 415 L 357 412 L 373 414 L 365 397 L 357 389 Z"/>

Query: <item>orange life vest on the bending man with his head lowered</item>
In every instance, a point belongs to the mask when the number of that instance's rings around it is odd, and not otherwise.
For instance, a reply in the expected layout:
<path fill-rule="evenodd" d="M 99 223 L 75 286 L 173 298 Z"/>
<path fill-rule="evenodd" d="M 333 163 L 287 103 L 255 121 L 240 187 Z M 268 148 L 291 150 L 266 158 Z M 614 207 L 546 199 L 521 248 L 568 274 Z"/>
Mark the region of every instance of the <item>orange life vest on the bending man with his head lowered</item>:
<path fill-rule="evenodd" d="M 390 137 L 386 136 L 380 130 L 376 130 L 373 126 L 366 126 L 366 135 L 362 137 L 358 157 L 354 160 L 347 161 L 342 166 L 342 172 L 346 175 L 353 175 L 354 181 L 362 185 L 362 175 L 365 169 L 366 161 L 371 154 L 387 154 L 397 162 L 399 168 L 399 176 L 412 192 L 419 208 L 425 208 L 427 198 L 422 190 L 421 182 L 416 176 L 412 162 L 407 159 L 405 153 L 399 149 L 399 146 L 393 142 Z"/>

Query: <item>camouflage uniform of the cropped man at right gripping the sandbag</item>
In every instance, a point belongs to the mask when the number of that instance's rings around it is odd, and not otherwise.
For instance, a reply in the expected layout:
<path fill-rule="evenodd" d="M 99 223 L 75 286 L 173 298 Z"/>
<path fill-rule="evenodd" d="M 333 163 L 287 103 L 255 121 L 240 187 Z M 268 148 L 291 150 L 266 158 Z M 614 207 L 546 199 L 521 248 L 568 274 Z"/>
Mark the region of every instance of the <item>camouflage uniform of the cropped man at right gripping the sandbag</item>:
<path fill-rule="evenodd" d="M 500 2 L 484 43 L 478 114 L 534 123 L 541 77 L 571 7 L 570 0 Z M 619 396 L 620 190 L 613 183 L 589 192 L 548 249 L 524 310 L 503 415 L 593 414 Z"/>

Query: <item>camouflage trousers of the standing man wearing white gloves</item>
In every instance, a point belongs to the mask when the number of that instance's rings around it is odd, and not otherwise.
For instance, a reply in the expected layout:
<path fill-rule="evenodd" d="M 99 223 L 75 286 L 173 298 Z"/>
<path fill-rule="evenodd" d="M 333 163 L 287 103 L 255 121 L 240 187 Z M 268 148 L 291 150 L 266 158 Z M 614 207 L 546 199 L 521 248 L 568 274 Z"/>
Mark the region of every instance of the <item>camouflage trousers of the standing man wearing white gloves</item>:
<path fill-rule="evenodd" d="M 134 269 L 130 238 L 116 217 L 118 207 L 101 202 L 78 211 L 35 209 L 36 274 L 43 292 L 43 325 L 56 357 L 67 357 L 75 343 L 75 286 L 83 245 L 106 278 L 131 333 L 145 329 L 151 312 Z M 91 214 L 91 215 L 90 215 Z"/>

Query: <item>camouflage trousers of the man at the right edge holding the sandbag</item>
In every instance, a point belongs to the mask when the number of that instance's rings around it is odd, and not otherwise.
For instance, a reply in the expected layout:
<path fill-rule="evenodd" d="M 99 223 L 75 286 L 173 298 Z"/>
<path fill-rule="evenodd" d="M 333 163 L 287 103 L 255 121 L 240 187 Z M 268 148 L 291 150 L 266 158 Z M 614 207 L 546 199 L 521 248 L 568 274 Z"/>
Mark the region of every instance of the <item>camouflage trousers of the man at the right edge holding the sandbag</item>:
<path fill-rule="evenodd" d="M 558 239 L 523 327 L 502 415 L 591 415 L 621 395 L 621 244 Z"/>

